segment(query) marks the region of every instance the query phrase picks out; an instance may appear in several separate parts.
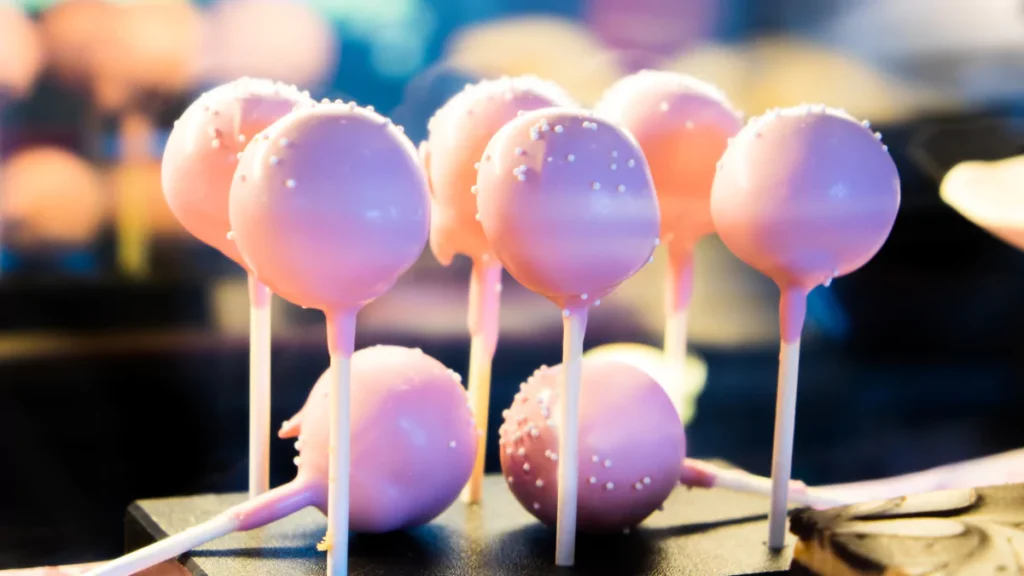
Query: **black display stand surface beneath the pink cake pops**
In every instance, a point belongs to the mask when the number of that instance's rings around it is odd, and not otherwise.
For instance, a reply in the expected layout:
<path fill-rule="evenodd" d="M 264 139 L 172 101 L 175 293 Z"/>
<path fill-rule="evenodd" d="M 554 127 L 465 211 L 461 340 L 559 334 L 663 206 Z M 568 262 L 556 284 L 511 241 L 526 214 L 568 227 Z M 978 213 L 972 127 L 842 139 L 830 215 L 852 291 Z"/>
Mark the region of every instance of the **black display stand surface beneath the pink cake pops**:
<path fill-rule="evenodd" d="M 725 576 L 784 573 L 793 557 L 767 549 L 768 499 L 726 490 L 678 488 L 629 534 L 581 535 L 577 566 L 554 566 L 554 530 L 515 501 L 503 479 L 484 483 L 484 503 L 457 502 L 427 526 L 384 535 L 353 535 L 351 576 Z M 209 520 L 243 494 L 140 500 L 126 519 L 126 547 L 136 549 Z M 327 523 L 308 508 L 259 530 L 231 534 L 181 559 L 196 575 L 298 576 L 325 573 L 316 550 Z"/>

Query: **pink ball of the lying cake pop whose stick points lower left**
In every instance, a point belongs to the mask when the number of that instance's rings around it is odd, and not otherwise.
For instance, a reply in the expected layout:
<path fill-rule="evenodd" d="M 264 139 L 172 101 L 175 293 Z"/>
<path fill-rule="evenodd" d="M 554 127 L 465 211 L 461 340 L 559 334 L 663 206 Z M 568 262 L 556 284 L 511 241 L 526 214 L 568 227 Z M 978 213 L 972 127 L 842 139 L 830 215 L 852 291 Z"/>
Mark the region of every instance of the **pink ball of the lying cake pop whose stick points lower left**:
<path fill-rule="evenodd" d="M 297 417 L 299 480 L 312 485 L 324 513 L 333 382 L 328 371 Z M 420 349 L 372 346 L 352 356 L 351 382 L 352 530 L 426 524 L 458 498 L 476 458 L 476 425 L 459 375 Z"/>

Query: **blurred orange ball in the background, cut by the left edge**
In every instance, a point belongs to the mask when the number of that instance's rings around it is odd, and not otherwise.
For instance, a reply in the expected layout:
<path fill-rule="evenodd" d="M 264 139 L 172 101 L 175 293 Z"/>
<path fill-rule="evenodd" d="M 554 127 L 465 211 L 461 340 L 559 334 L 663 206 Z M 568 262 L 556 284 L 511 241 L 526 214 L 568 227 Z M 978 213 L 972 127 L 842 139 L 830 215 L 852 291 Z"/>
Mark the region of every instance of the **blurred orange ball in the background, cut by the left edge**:
<path fill-rule="evenodd" d="M 105 203 L 95 168 L 59 148 L 18 152 L 0 168 L 4 241 L 23 248 L 77 248 L 99 233 Z"/>

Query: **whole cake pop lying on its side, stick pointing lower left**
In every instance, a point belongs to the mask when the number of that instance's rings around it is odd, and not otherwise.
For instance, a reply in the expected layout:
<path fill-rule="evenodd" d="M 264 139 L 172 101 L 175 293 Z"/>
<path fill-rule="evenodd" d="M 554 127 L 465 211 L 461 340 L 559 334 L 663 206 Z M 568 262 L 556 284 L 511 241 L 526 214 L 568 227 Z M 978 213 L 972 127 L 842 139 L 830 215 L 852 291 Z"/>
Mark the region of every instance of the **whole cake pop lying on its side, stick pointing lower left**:
<path fill-rule="evenodd" d="M 379 533 L 430 522 L 458 497 L 476 453 L 476 426 L 459 376 L 419 349 L 373 346 L 351 358 L 351 528 Z M 333 385 L 329 370 L 282 429 L 282 438 L 298 438 L 295 480 L 87 576 L 128 576 L 307 506 L 328 513 Z"/>

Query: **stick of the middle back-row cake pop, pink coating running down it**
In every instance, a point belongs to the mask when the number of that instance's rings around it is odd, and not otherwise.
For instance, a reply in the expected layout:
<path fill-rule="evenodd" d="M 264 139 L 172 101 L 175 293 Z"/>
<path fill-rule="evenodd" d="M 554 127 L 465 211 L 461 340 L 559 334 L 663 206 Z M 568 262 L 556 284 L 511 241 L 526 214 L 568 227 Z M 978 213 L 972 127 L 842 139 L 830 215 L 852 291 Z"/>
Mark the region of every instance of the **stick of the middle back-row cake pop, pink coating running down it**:
<path fill-rule="evenodd" d="M 480 442 L 469 483 L 462 491 L 466 503 L 475 504 L 483 493 L 483 464 L 486 457 L 487 414 L 490 409 L 490 365 L 498 345 L 501 311 L 502 266 L 484 256 L 473 260 L 469 281 L 469 404 L 476 420 Z"/>

